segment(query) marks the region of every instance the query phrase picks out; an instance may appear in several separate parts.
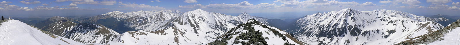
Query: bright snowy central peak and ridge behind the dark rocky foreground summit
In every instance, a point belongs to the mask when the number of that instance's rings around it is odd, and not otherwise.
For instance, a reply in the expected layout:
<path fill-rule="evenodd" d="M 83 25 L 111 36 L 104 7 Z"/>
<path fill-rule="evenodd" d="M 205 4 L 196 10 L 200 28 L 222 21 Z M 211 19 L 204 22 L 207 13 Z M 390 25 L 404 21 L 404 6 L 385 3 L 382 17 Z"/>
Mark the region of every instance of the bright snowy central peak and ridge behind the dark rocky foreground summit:
<path fill-rule="evenodd" d="M 140 26 L 148 28 L 125 32 L 121 34 L 120 40 L 109 44 L 204 45 L 250 18 L 267 20 L 255 16 L 230 16 L 197 9 L 170 20 L 155 22 L 161 25 Z"/>

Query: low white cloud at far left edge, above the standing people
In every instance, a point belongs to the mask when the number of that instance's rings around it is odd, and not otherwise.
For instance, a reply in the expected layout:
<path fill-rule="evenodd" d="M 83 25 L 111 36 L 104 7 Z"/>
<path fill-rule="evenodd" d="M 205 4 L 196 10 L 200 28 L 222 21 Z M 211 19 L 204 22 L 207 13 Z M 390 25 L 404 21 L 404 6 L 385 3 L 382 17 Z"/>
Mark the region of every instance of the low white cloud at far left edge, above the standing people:
<path fill-rule="evenodd" d="M 25 10 L 25 11 L 32 11 L 34 9 L 30 9 L 29 7 L 19 7 L 17 5 L 8 5 L 8 4 L 4 4 L 4 5 L 0 5 L 0 6 L 3 6 L 4 8 L 1 8 L 1 10 Z"/>

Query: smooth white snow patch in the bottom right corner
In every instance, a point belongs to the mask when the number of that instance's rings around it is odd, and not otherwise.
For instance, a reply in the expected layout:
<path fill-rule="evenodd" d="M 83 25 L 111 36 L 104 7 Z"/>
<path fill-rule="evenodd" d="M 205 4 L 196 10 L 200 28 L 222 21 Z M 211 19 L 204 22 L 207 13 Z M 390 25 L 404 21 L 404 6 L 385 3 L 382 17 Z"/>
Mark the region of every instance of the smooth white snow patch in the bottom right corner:
<path fill-rule="evenodd" d="M 460 27 L 452 29 L 449 33 L 443 34 L 444 40 L 437 40 L 428 45 L 460 45 Z"/>

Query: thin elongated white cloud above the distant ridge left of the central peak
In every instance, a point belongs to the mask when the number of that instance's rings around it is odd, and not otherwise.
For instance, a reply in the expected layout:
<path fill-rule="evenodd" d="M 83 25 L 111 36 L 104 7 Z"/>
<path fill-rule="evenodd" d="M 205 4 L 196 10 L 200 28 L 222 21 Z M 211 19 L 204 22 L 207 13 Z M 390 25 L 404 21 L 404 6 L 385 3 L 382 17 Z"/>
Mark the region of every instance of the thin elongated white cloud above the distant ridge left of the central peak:
<path fill-rule="evenodd" d="M 131 7 L 131 8 L 151 8 L 151 9 L 165 9 L 163 7 L 159 7 L 159 6 L 150 6 L 150 5 L 145 5 L 145 4 L 134 4 L 134 3 L 121 3 L 121 2 L 118 2 L 120 3 L 120 6 L 119 7 Z"/>

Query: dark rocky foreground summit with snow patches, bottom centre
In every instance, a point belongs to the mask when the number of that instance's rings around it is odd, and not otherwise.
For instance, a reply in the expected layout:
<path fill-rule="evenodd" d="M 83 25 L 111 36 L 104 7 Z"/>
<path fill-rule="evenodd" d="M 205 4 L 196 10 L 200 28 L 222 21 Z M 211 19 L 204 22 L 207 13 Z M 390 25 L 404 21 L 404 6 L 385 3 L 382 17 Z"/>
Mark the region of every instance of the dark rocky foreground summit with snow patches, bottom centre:
<path fill-rule="evenodd" d="M 305 45 L 287 32 L 250 19 L 207 45 Z"/>

